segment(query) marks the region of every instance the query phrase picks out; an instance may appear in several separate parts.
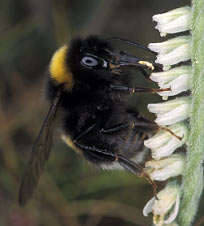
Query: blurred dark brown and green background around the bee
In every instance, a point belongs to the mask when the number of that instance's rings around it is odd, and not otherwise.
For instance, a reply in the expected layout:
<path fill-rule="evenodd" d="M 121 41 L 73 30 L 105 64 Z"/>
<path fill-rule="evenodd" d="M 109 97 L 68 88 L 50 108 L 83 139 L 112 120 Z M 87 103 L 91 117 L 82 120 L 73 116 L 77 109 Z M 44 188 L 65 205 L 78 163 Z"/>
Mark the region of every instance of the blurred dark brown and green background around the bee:
<path fill-rule="evenodd" d="M 43 81 L 53 52 L 70 39 L 89 34 L 143 45 L 161 41 L 152 16 L 185 4 L 185 0 L 0 1 L 0 226 L 152 224 L 151 217 L 142 215 L 152 198 L 146 180 L 128 172 L 96 169 L 71 151 L 58 131 L 47 169 L 26 207 L 19 207 L 17 193 L 48 110 Z M 121 48 L 140 54 L 124 44 Z M 137 86 L 153 86 L 137 71 L 130 73 L 135 74 Z M 140 94 L 130 104 L 153 119 L 146 105 L 159 100 L 157 95 Z"/>

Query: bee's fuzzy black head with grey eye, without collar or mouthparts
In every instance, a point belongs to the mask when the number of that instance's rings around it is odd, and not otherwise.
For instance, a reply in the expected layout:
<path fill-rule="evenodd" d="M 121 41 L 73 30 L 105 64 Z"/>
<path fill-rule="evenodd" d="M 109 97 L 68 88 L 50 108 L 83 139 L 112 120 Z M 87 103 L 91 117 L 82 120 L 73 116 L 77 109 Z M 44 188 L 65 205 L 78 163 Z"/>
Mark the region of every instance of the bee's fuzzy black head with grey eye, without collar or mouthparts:
<path fill-rule="evenodd" d="M 89 81 L 112 78 L 109 68 L 112 48 L 110 44 L 96 36 L 74 39 L 68 51 L 67 64 L 76 79 Z"/>

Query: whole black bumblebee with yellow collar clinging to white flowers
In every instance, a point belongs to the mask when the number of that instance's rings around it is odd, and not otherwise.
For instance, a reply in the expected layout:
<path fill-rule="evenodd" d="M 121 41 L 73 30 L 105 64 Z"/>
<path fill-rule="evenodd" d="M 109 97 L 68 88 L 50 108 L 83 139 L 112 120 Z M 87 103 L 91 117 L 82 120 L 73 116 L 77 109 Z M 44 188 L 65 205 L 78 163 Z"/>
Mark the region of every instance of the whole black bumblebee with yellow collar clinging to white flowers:
<path fill-rule="evenodd" d="M 50 109 L 33 146 L 20 185 L 19 203 L 31 198 L 49 158 L 57 120 L 62 139 L 89 162 L 104 169 L 125 169 L 138 176 L 143 172 L 146 149 L 143 141 L 159 127 L 128 106 L 135 92 L 158 90 L 132 87 L 124 72 L 133 66 L 145 77 L 160 65 L 113 48 L 114 41 L 150 51 L 125 39 L 89 36 L 74 39 L 57 50 L 49 65 L 46 95 Z M 162 90 L 160 90 L 162 91 Z"/>

